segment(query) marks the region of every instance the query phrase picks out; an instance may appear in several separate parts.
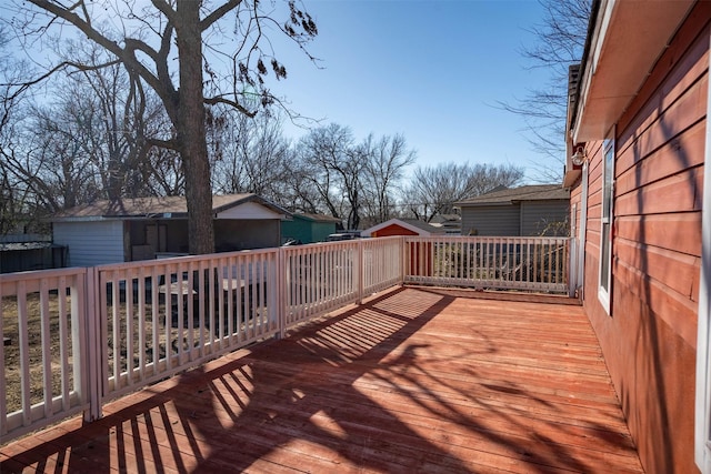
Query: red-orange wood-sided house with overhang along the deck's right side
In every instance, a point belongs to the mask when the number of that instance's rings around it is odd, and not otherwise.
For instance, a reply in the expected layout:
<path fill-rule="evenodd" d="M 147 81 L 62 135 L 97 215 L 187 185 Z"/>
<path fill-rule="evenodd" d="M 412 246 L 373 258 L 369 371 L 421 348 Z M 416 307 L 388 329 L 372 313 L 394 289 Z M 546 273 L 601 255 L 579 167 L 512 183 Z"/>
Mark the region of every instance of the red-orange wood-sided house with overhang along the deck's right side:
<path fill-rule="evenodd" d="M 571 68 L 573 276 L 648 473 L 711 473 L 710 40 L 711 2 L 594 1 Z"/>

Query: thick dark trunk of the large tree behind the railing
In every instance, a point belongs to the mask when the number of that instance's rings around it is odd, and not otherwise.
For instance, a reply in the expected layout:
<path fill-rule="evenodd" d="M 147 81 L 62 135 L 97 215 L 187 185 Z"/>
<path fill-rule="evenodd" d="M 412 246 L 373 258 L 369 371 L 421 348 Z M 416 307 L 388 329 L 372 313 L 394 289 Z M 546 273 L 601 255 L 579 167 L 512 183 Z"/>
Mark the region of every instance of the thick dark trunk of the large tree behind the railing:
<path fill-rule="evenodd" d="M 202 38 L 197 0 L 178 0 L 176 38 L 180 57 L 178 142 L 186 174 L 188 239 L 191 254 L 214 252 L 212 185 L 202 98 Z"/>

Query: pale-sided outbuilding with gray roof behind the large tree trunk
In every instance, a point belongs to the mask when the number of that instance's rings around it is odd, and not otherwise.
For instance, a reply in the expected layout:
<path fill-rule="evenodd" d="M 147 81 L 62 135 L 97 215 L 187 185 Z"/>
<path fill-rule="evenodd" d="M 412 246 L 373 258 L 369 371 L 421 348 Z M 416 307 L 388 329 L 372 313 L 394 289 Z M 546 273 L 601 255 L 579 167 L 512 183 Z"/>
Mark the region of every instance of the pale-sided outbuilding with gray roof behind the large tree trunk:
<path fill-rule="evenodd" d="M 280 222 L 290 213 L 256 194 L 212 198 L 218 252 L 281 244 Z M 56 244 L 69 249 L 71 266 L 129 262 L 188 252 L 183 196 L 99 201 L 52 218 Z"/>

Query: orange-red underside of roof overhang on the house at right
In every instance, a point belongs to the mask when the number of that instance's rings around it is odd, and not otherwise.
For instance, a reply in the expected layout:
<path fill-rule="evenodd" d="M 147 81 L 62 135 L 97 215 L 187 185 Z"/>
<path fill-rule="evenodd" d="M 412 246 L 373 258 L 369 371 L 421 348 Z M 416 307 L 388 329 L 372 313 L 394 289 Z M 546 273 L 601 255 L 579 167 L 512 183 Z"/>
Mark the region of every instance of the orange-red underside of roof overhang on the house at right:
<path fill-rule="evenodd" d="M 587 58 L 573 143 L 602 140 L 639 92 L 693 0 L 602 0 Z"/>

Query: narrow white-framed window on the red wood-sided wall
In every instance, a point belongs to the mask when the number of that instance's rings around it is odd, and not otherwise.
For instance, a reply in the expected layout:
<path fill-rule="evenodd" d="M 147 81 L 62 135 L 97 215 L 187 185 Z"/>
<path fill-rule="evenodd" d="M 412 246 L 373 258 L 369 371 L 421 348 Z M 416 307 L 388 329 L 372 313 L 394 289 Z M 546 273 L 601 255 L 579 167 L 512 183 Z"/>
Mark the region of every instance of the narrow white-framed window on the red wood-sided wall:
<path fill-rule="evenodd" d="M 613 201 L 614 140 L 605 140 L 602 159 L 602 214 L 600 215 L 600 280 L 598 296 L 608 314 L 611 314 Z"/>

